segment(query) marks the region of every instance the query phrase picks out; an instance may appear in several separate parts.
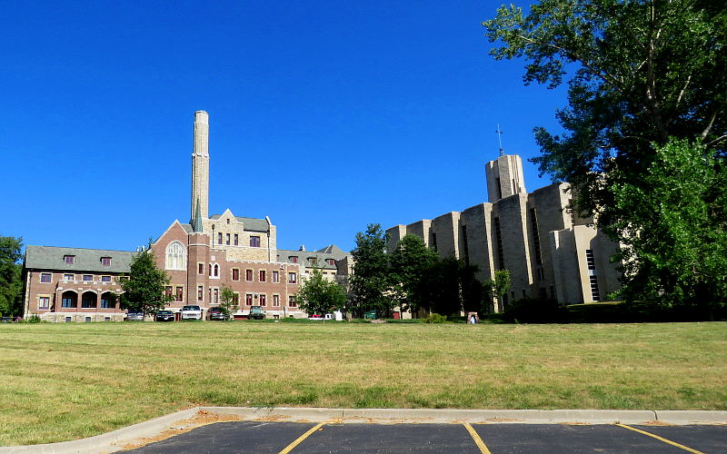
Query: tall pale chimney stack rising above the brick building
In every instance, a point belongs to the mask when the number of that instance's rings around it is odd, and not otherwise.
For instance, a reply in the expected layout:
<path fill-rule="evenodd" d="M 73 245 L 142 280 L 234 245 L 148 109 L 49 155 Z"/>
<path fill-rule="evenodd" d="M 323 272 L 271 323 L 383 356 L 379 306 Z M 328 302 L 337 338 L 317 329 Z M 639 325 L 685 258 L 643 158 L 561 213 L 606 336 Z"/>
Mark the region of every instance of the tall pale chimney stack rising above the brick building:
<path fill-rule="evenodd" d="M 210 192 L 210 123 L 204 111 L 194 113 L 194 151 L 192 153 L 192 200 L 190 201 L 190 221 L 194 224 L 209 218 Z"/>

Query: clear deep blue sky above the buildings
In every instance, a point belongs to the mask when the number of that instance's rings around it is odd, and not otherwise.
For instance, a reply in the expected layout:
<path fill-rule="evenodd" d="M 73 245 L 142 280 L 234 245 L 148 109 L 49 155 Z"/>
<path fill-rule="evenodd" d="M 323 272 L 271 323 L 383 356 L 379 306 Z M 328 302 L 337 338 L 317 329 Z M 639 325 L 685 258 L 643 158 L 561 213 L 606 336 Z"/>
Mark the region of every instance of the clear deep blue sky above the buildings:
<path fill-rule="evenodd" d="M 129 250 L 188 222 L 196 110 L 210 212 L 270 216 L 281 249 L 483 202 L 497 124 L 526 160 L 566 102 L 487 54 L 501 3 L 3 2 L 0 235 Z"/>

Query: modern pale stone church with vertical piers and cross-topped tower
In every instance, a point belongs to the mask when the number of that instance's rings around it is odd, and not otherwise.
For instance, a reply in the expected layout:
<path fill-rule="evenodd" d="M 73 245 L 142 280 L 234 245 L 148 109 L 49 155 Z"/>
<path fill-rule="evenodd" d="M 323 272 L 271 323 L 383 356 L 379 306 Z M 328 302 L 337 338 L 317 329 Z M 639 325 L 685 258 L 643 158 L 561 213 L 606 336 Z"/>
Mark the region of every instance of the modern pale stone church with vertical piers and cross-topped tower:
<path fill-rule="evenodd" d="M 494 311 L 521 298 L 603 301 L 618 290 L 619 273 L 609 262 L 616 244 L 592 220 L 573 217 L 567 184 L 526 192 L 516 155 L 487 163 L 485 174 L 490 202 L 393 226 L 386 231 L 389 251 L 413 234 L 442 257 L 476 265 L 483 281 L 493 279 L 494 271 L 510 271 L 511 290 L 505 301 L 495 302 Z"/>

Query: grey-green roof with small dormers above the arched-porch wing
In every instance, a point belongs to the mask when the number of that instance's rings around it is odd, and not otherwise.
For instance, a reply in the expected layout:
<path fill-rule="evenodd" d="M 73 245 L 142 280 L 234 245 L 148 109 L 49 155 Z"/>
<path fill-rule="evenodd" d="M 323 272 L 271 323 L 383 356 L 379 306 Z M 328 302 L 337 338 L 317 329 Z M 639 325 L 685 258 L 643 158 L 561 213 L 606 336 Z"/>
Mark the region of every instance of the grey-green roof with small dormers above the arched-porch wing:
<path fill-rule="evenodd" d="M 55 246 L 25 246 L 25 268 L 33 270 L 129 272 L 135 252 L 105 249 L 59 248 Z M 73 264 L 64 255 L 75 255 Z M 111 264 L 101 264 L 102 257 L 111 257 Z"/>

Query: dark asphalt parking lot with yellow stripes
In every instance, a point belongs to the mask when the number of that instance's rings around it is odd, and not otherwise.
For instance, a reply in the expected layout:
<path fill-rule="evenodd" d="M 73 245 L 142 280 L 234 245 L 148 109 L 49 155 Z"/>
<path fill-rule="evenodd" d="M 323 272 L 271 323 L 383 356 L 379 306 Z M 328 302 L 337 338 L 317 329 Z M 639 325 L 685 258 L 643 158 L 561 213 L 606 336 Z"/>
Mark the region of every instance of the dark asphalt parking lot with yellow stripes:
<path fill-rule="evenodd" d="M 727 453 L 727 426 L 235 421 L 125 452 Z"/>

